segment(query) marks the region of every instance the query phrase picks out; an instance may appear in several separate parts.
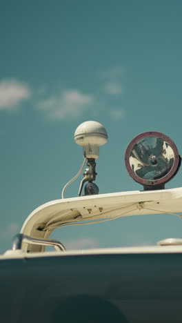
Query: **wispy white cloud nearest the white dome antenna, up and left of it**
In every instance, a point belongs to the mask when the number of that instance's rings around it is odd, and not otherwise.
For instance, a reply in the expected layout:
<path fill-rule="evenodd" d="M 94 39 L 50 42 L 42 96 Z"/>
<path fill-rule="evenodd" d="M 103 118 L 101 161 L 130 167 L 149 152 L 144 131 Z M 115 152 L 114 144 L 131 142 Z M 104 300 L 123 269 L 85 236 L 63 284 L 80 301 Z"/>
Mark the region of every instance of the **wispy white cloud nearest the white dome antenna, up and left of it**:
<path fill-rule="evenodd" d="M 78 117 L 83 110 L 94 102 L 94 97 L 84 95 L 79 90 L 65 90 L 61 95 L 53 95 L 37 103 L 37 108 L 46 110 L 53 119 Z"/>

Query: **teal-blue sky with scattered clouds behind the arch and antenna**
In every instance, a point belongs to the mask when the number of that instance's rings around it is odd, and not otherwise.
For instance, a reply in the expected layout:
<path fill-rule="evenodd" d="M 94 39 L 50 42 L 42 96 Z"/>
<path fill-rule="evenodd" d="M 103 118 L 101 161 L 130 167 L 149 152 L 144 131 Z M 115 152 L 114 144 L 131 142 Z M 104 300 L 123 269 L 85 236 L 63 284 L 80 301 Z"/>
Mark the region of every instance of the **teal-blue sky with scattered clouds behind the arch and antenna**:
<path fill-rule="evenodd" d="M 140 190 L 125 171 L 130 140 L 148 130 L 181 153 L 181 1 L 1 1 L 0 251 L 37 206 L 61 197 L 83 157 L 74 130 L 101 122 L 100 193 Z M 66 190 L 77 196 L 81 177 Z M 166 188 L 181 186 L 181 170 Z M 65 246 L 155 244 L 181 237 L 172 215 L 59 229 Z"/>

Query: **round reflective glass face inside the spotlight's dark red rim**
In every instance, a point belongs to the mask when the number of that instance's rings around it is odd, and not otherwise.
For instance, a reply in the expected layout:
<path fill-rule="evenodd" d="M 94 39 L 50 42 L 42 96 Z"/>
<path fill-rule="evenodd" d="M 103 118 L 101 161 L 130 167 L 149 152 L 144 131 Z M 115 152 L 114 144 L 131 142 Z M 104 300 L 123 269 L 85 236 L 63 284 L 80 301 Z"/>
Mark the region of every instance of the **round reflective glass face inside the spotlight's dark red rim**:
<path fill-rule="evenodd" d="M 170 172 L 174 164 L 174 151 L 160 137 L 145 137 L 133 146 L 129 163 L 136 176 L 153 181 Z"/>

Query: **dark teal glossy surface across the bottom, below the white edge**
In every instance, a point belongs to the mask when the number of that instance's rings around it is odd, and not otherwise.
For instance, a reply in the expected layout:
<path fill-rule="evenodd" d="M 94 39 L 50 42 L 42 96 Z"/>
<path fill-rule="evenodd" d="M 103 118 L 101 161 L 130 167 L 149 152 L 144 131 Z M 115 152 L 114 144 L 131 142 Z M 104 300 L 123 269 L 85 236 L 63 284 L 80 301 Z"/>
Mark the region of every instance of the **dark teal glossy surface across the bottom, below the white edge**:
<path fill-rule="evenodd" d="M 1 260 L 2 322 L 182 322 L 182 255 Z"/>

